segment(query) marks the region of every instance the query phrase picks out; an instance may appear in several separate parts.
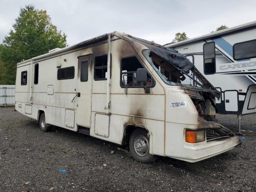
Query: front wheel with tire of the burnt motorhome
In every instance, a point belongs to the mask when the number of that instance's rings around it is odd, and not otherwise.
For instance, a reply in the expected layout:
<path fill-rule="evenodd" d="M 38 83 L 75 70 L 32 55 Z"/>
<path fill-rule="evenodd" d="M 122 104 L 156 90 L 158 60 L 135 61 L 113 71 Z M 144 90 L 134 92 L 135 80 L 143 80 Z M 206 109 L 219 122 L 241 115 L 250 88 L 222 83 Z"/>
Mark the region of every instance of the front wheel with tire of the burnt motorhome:
<path fill-rule="evenodd" d="M 136 129 L 132 132 L 129 140 L 129 148 L 132 157 L 142 163 L 152 163 L 156 156 L 149 153 L 148 132 L 143 129 Z"/>

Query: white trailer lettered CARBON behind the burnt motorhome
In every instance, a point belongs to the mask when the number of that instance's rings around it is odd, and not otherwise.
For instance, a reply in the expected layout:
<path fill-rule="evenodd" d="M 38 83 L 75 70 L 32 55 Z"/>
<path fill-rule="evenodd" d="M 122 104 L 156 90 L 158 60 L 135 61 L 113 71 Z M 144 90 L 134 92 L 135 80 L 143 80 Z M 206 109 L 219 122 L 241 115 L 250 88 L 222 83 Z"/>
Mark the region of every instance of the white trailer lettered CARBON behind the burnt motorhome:
<path fill-rule="evenodd" d="M 204 45 L 215 44 L 215 72 L 206 74 Z M 252 43 L 241 59 L 236 59 L 235 46 Z M 216 100 L 218 113 L 245 115 L 256 113 L 256 21 L 220 30 L 164 46 L 178 50 L 221 94 Z M 241 50 L 246 49 L 241 47 Z M 251 52 L 250 56 L 247 56 Z"/>

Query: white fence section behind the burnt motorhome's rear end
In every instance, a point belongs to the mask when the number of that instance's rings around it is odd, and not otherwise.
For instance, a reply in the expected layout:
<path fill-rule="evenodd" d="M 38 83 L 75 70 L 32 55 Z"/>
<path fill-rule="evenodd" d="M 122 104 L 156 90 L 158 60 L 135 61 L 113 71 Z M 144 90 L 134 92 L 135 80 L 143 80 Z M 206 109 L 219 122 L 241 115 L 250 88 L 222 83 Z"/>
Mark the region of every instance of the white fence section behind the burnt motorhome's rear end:
<path fill-rule="evenodd" d="M 15 85 L 0 85 L 0 106 L 15 105 Z"/>

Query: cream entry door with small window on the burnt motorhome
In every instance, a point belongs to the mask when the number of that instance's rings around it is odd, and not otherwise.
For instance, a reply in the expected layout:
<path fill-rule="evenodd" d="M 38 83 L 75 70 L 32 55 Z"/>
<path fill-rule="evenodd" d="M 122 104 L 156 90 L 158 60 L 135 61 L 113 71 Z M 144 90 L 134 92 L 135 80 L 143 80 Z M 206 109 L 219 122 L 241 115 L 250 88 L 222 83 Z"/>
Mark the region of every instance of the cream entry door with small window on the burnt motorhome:
<path fill-rule="evenodd" d="M 90 127 L 92 101 L 92 55 L 78 57 L 77 125 Z"/>

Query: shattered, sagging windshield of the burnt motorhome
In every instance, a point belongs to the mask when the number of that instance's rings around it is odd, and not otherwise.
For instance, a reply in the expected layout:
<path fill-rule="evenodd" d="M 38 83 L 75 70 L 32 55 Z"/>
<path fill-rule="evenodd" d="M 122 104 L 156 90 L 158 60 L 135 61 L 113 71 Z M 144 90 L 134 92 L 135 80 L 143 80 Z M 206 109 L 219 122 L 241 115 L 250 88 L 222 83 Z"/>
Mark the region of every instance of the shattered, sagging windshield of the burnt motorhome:
<path fill-rule="evenodd" d="M 143 50 L 142 54 L 166 84 L 202 86 L 191 70 L 183 72 L 151 50 Z"/>

